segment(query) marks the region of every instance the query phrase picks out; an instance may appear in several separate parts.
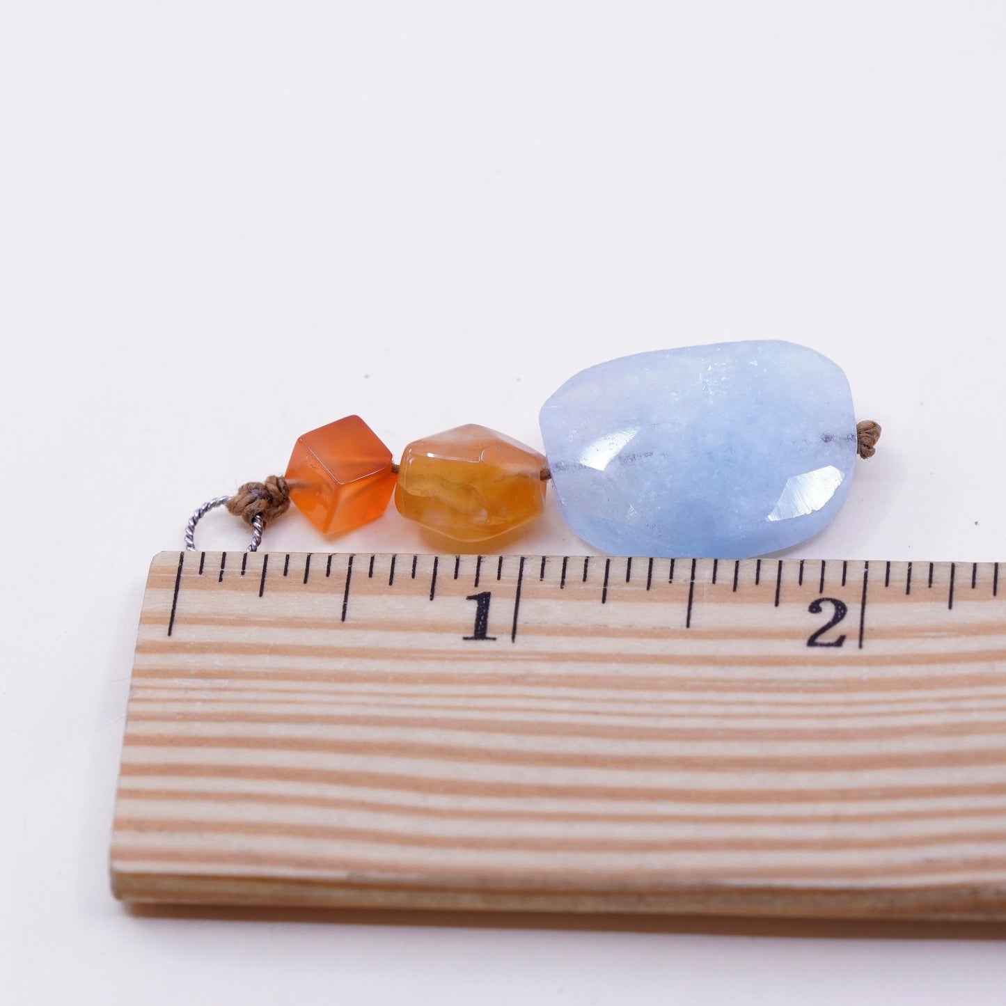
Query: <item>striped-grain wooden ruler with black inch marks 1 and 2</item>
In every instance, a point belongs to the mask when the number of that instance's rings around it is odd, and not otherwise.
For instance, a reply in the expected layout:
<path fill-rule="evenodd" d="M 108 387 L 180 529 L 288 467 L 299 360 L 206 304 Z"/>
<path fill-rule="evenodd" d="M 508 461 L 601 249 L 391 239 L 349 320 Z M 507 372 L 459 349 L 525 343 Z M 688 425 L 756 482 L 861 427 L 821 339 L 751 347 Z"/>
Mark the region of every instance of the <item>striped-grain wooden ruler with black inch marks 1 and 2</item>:
<path fill-rule="evenodd" d="M 140 620 L 115 891 L 1002 917 L 999 576 L 164 552 Z"/>

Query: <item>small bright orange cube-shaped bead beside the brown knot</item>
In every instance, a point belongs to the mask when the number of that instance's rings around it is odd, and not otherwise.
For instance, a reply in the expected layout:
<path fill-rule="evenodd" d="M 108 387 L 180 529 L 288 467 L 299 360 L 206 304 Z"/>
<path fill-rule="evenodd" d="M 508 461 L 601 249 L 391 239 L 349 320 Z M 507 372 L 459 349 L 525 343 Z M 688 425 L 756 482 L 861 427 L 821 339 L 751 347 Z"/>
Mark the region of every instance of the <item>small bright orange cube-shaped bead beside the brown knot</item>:
<path fill-rule="evenodd" d="M 287 466 L 290 498 L 322 534 L 351 531 L 387 509 L 391 452 L 358 416 L 298 438 Z"/>

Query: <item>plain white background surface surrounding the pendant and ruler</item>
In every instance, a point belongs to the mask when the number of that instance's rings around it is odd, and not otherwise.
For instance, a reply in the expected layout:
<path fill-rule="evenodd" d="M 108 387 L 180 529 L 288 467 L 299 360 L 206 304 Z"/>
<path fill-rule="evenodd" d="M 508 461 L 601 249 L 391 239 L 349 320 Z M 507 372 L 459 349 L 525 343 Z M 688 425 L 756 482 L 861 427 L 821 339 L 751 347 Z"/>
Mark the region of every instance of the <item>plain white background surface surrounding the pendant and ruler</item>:
<path fill-rule="evenodd" d="M 107 855 L 150 556 L 350 412 L 540 447 L 585 365 L 792 339 L 884 438 L 791 554 L 1006 557 L 1004 51 L 998 0 L 4 4 L 0 998 L 1002 1002 L 1001 930 L 136 915 Z"/>

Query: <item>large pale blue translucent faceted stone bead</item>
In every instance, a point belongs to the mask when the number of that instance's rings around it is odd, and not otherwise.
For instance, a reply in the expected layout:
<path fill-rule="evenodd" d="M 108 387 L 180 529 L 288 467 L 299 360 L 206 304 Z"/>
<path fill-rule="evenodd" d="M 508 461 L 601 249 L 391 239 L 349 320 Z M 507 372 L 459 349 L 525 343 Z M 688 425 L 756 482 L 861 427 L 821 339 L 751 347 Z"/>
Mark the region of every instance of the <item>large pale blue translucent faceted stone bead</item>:
<path fill-rule="evenodd" d="M 816 534 L 857 457 L 849 382 L 792 342 L 722 342 L 590 367 L 542 406 L 562 519 L 622 555 L 746 558 Z"/>

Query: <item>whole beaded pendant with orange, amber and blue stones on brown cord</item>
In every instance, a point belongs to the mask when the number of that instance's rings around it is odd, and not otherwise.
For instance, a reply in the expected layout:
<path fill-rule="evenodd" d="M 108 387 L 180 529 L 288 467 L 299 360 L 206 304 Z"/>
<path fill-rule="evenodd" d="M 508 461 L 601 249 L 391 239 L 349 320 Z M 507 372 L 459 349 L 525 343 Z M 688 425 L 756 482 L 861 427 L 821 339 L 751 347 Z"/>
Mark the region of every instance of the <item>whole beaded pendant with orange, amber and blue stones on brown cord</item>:
<path fill-rule="evenodd" d="M 856 424 L 849 382 L 791 342 L 724 342 L 638 353 L 567 380 L 540 413 L 544 456 L 468 425 L 410 443 L 398 465 L 357 415 L 300 437 L 283 478 L 226 504 L 255 529 L 293 502 L 323 534 L 399 513 L 476 543 L 533 520 L 550 480 L 584 541 L 628 555 L 747 558 L 816 534 L 848 496 L 857 456 L 880 435 Z"/>

